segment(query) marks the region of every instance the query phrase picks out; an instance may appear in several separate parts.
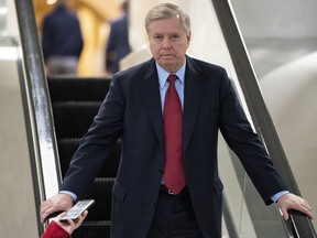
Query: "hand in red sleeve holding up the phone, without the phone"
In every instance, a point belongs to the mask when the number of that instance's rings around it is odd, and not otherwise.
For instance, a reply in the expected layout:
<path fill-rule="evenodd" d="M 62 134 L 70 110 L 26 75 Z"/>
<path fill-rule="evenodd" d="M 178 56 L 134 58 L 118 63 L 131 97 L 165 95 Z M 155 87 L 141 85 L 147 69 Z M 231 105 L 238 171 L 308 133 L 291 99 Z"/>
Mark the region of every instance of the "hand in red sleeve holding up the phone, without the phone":
<path fill-rule="evenodd" d="M 41 236 L 41 238 L 67 238 L 75 229 L 77 229 L 84 219 L 87 217 L 88 210 L 85 210 L 76 220 L 68 219 L 67 223 L 59 221 L 61 217 L 64 216 L 66 212 L 61 213 L 58 216 L 52 219 L 47 228 Z"/>

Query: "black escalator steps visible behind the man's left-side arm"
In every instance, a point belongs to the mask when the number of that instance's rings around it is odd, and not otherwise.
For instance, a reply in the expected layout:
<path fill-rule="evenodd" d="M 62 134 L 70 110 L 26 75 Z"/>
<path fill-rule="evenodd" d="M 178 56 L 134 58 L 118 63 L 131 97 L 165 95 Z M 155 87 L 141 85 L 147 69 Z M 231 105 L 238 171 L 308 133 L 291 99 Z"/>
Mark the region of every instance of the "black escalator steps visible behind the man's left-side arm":
<path fill-rule="evenodd" d="M 62 176 L 64 176 L 81 137 L 92 123 L 109 89 L 110 78 L 50 77 L 47 83 Z M 101 167 L 91 190 L 89 188 L 88 198 L 94 198 L 95 205 L 89 209 L 84 224 L 72 237 L 109 237 L 111 188 L 117 176 L 119 159 L 120 141 L 108 158 L 108 163 Z"/>

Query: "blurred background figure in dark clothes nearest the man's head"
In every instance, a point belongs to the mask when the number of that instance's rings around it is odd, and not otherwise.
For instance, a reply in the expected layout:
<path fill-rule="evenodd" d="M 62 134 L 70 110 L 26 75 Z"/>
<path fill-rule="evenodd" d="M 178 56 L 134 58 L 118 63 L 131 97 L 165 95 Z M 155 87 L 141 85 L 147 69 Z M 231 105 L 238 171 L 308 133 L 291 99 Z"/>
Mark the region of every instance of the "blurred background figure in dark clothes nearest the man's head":
<path fill-rule="evenodd" d="M 120 69 L 119 63 L 121 58 L 131 52 L 127 14 L 128 7 L 128 1 L 122 0 L 122 15 L 110 22 L 110 34 L 106 48 L 106 71 L 108 74 L 118 72 Z"/>

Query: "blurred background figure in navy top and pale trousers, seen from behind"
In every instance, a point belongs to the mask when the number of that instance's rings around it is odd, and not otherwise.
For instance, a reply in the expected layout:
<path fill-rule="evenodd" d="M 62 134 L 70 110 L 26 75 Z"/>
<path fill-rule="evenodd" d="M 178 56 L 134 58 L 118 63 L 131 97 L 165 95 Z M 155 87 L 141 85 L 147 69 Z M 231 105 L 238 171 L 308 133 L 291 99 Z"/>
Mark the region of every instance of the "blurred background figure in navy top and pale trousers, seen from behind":
<path fill-rule="evenodd" d="M 79 21 L 70 11 L 69 0 L 58 0 L 42 25 L 42 47 L 47 75 L 77 74 L 77 64 L 84 46 Z"/>

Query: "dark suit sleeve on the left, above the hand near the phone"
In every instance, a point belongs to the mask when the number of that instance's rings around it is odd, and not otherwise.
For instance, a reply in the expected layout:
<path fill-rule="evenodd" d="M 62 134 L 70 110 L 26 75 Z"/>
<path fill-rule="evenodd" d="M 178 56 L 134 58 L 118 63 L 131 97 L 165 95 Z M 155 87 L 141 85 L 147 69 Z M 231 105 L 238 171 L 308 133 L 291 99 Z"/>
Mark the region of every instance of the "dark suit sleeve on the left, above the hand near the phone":
<path fill-rule="evenodd" d="M 69 191 L 79 199 L 87 197 L 95 177 L 121 136 L 123 113 L 120 86 L 113 78 L 92 125 L 70 161 L 61 191 Z"/>

